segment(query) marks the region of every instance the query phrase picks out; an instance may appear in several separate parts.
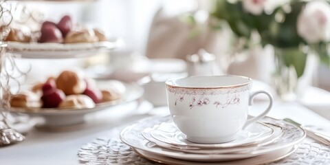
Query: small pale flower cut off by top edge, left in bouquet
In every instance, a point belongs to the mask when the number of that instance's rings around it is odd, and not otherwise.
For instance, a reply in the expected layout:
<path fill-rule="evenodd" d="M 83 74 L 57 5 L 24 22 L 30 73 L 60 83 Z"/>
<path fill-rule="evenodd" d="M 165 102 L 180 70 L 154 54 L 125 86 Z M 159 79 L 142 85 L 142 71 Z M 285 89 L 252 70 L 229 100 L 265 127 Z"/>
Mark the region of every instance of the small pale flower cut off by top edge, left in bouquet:
<path fill-rule="evenodd" d="M 266 0 L 243 0 L 243 8 L 246 12 L 250 12 L 254 15 L 260 15 L 265 8 Z"/>

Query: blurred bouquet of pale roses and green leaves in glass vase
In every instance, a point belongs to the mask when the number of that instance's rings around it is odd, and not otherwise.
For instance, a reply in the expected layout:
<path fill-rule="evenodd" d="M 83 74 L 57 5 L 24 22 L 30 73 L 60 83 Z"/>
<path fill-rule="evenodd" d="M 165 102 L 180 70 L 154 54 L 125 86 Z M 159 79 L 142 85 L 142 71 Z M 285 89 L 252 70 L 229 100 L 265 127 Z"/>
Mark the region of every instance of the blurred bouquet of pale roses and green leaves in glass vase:
<path fill-rule="evenodd" d="M 307 54 L 317 54 L 330 65 L 329 1 L 215 0 L 212 7 L 210 15 L 218 23 L 227 23 L 246 45 L 257 34 L 258 43 L 274 46 L 274 83 L 280 96 L 296 91 Z"/>

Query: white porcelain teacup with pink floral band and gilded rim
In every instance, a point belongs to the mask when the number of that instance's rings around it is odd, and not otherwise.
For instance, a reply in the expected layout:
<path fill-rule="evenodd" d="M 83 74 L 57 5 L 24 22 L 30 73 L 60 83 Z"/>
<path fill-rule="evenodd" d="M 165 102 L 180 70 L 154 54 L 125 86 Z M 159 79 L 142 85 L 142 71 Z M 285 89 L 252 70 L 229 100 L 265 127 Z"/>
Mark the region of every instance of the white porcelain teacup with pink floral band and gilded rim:
<path fill-rule="evenodd" d="M 192 76 L 166 81 L 168 107 L 173 121 L 190 142 L 223 143 L 235 139 L 249 124 L 272 108 L 267 91 L 251 93 L 252 78 L 243 76 Z M 266 94 L 270 104 L 248 120 L 254 96 Z"/>

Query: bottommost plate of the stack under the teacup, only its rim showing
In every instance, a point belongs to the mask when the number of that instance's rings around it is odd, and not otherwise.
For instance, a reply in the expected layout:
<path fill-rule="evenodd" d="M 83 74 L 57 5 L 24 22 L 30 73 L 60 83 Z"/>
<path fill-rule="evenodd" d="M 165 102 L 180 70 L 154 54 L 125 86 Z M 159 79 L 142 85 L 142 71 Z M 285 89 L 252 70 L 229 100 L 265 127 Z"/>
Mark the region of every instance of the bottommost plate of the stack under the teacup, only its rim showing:
<path fill-rule="evenodd" d="M 268 153 L 264 155 L 259 155 L 256 157 L 251 157 L 248 159 L 239 159 L 239 160 L 234 160 L 230 162 L 190 162 L 190 161 L 185 161 L 181 159 L 173 159 L 170 157 L 164 157 L 160 155 L 156 155 L 154 153 L 150 153 L 148 151 L 142 151 L 140 149 L 133 148 L 135 153 L 138 155 L 150 159 L 154 162 L 159 162 L 162 164 L 177 164 L 177 165 L 252 165 L 252 164 L 267 164 L 270 162 L 277 161 L 279 159 L 283 159 L 284 157 L 287 157 L 294 153 L 296 149 L 298 148 L 298 145 L 295 146 L 289 146 L 287 148 L 283 148 L 281 150 L 278 150 L 274 153 Z"/>

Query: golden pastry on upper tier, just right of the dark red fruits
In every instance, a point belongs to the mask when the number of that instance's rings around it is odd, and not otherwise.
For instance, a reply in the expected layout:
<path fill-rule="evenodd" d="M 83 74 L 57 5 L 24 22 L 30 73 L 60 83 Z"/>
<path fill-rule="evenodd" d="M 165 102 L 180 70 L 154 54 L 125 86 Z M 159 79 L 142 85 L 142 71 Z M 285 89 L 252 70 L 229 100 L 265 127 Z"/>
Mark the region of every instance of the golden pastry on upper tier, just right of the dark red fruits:
<path fill-rule="evenodd" d="M 70 31 L 65 36 L 64 43 L 94 43 L 98 37 L 93 30 Z"/>

